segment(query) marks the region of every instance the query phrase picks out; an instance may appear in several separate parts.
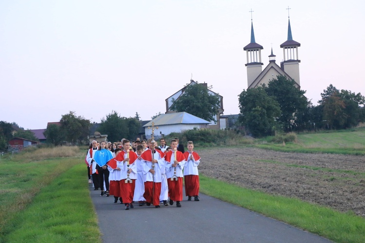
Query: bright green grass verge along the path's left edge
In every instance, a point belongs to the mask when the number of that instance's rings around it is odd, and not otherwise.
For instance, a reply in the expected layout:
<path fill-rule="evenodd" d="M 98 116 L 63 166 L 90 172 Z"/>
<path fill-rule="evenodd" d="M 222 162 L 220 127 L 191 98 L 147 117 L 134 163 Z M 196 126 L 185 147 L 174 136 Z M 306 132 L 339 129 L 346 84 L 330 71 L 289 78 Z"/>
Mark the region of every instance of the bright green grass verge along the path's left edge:
<path fill-rule="evenodd" d="M 78 164 L 42 188 L 8 222 L 4 242 L 101 242 L 85 171 Z"/>

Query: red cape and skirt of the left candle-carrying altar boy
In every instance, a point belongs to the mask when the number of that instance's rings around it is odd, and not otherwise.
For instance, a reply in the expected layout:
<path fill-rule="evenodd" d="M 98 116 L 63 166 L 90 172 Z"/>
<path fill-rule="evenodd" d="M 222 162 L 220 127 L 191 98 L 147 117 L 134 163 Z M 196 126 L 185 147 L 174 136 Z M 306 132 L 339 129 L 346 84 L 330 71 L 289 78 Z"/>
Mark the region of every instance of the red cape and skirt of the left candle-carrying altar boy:
<path fill-rule="evenodd" d="M 123 161 L 124 160 L 124 155 L 127 154 L 124 150 L 122 150 L 116 157 L 115 159 L 117 161 Z M 133 164 L 134 161 L 136 161 L 136 159 L 138 158 L 138 156 L 136 155 L 136 153 L 134 152 L 129 152 L 129 165 Z M 134 188 L 136 185 L 136 180 L 132 179 L 132 183 L 126 183 L 126 178 L 122 178 L 119 182 L 119 186 L 120 186 L 120 194 L 121 197 L 123 198 L 123 203 L 132 203 L 133 201 L 133 194 L 134 194 Z"/>

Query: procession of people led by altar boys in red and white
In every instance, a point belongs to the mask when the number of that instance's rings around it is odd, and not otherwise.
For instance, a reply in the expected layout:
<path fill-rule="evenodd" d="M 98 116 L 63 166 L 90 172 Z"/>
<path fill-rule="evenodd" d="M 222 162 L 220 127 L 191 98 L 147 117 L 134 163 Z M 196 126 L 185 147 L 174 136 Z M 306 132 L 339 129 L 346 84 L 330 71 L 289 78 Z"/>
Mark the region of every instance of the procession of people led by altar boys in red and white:
<path fill-rule="evenodd" d="M 92 141 L 85 162 L 88 166 L 89 183 L 100 196 L 114 196 L 114 203 L 125 209 L 138 206 L 160 208 L 174 205 L 181 208 L 183 178 L 188 201 L 199 201 L 200 156 L 194 151 L 194 143 L 188 141 L 187 151 L 179 139 L 172 139 L 170 146 L 165 139 L 160 145 L 154 139 L 137 138 L 130 142 L 98 143 Z"/>

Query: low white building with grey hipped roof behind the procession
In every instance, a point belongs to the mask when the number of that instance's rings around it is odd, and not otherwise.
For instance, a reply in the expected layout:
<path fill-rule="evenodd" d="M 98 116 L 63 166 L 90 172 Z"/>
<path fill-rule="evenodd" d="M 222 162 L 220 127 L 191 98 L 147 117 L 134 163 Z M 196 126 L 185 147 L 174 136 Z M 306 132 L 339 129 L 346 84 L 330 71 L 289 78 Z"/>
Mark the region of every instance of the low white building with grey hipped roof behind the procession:
<path fill-rule="evenodd" d="M 161 114 L 152 121 L 146 123 L 143 127 L 145 128 L 146 139 L 151 138 L 152 131 L 154 131 L 154 138 L 158 139 L 173 132 L 180 133 L 184 130 L 191 130 L 194 128 L 208 128 L 209 124 L 210 121 L 193 116 L 187 112 L 175 112 Z"/>

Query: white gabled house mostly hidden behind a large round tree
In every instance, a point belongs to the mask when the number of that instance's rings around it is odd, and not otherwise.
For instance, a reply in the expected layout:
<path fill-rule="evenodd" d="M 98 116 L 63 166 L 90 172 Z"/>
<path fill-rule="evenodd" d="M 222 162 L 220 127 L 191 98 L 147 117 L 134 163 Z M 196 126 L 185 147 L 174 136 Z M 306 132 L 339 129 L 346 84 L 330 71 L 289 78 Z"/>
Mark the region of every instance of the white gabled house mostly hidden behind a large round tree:
<path fill-rule="evenodd" d="M 173 101 L 176 101 L 176 100 L 178 100 L 180 98 L 180 96 L 184 93 L 186 87 L 188 87 L 190 85 L 197 85 L 197 84 L 198 84 L 197 82 L 195 82 L 194 80 L 191 79 L 190 80 L 190 83 L 188 85 L 184 86 L 182 89 L 180 89 L 179 91 L 177 91 L 176 93 L 174 93 L 173 95 L 171 95 L 170 97 L 168 97 L 165 100 L 165 103 L 166 103 L 166 114 L 172 113 L 172 112 L 176 112 L 176 111 L 171 110 L 171 106 L 173 104 Z M 208 89 L 208 93 L 210 95 L 216 95 L 216 96 L 219 97 L 219 109 L 218 109 L 218 112 L 217 112 L 217 115 L 216 115 L 216 118 L 215 118 L 216 121 L 210 121 L 208 128 L 211 128 L 211 129 L 222 129 L 220 127 L 219 116 L 221 114 L 223 114 L 223 111 L 224 111 L 224 109 L 223 109 L 223 96 L 221 96 L 221 95 L 213 92 L 212 90 L 210 90 L 208 88 L 208 84 L 206 84 L 206 83 L 202 83 L 202 84 L 198 84 L 198 85 L 202 85 L 202 86 L 206 87 Z"/>

